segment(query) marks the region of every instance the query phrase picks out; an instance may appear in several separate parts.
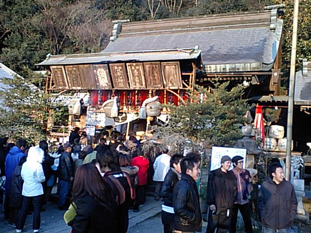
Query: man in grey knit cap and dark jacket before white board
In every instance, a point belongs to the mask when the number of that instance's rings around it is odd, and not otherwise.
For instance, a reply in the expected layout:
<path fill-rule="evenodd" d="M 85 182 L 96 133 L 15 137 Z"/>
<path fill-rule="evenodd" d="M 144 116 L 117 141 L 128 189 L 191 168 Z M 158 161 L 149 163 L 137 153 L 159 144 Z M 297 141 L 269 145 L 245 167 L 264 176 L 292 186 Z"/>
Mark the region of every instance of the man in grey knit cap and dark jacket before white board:
<path fill-rule="evenodd" d="M 232 207 L 237 196 L 237 183 L 231 167 L 231 158 L 221 158 L 221 167 L 208 176 L 207 204 L 209 205 L 207 233 L 227 233 L 230 230 Z"/>

